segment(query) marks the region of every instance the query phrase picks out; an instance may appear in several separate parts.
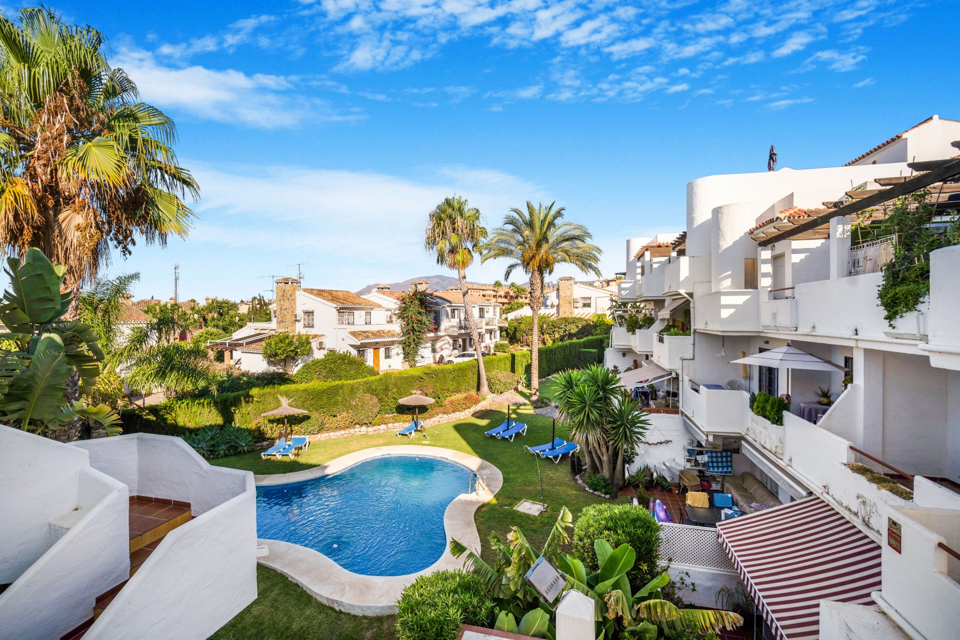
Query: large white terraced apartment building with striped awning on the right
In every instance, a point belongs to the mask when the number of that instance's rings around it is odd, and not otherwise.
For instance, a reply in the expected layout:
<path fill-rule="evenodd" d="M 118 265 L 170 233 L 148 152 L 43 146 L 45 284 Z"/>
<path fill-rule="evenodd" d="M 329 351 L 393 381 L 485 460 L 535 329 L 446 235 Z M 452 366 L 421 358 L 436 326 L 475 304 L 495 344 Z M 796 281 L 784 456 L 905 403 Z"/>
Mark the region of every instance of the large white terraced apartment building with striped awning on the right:
<path fill-rule="evenodd" d="M 852 225 L 892 189 L 930 186 L 952 206 L 958 141 L 960 123 L 934 116 L 842 167 L 696 179 L 684 235 L 628 241 L 618 300 L 655 323 L 615 326 L 607 363 L 634 367 L 628 387 L 679 395 L 652 416 L 669 442 L 636 465 L 686 467 L 760 511 L 720 537 L 780 638 L 957 637 L 960 247 L 931 254 L 930 295 L 889 326 L 876 297 L 889 247 L 858 244 Z M 839 368 L 731 363 L 787 344 Z M 751 411 L 758 391 L 789 393 L 781 425 Z M 751 527 L 747 549 L 736 532 Z"/>

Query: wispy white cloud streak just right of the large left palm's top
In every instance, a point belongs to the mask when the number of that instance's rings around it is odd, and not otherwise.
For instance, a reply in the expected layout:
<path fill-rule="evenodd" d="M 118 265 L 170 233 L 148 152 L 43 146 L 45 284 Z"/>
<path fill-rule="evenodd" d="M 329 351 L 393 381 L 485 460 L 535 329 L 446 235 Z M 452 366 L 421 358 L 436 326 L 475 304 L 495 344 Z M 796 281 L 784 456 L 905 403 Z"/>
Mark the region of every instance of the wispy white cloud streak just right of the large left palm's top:
<path fill-rule="evenodd" d="M 149 52 L 132 49 L 121 50 L 112 63 L 135 80 L 145 102 L 208 120 L 282 129 L 307 119 L 348 121 L 364 117 L 356 112 L 337 112 L 322 100 L 300 97 L 290 79 L 282 76 L 248 75 L 196 64 L 168 66 Z"/>

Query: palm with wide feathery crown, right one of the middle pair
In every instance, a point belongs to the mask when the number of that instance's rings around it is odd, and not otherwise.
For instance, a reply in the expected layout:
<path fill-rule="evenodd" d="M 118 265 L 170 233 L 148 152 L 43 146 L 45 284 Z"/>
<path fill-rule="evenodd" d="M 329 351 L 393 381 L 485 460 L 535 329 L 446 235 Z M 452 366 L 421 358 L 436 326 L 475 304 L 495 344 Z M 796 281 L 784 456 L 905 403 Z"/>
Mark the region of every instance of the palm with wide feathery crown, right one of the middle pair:
<path fill-rule="evenodd" d="M 564 207 L 554 208 L 540 203 L 534 207 L 527 201 L 527 209 L 513 208 L 503 219 L 503 225 L 494 229 L 490 241 L 481 248 L 482 262 L 494 258 L 507 258 L 505 279 L 516 269 L 530 276 L 530 310 L 533 315 L 533 337 L 530 348 L 531 399 L 540 391 L 540 307 L 543 305 L 543 279 L 553 273 L 560 264 L 573 265 L 584 273 L 600 277 L 600 248 L 591 244 L 593 239 L 587 227 L 562 222 Z"/>

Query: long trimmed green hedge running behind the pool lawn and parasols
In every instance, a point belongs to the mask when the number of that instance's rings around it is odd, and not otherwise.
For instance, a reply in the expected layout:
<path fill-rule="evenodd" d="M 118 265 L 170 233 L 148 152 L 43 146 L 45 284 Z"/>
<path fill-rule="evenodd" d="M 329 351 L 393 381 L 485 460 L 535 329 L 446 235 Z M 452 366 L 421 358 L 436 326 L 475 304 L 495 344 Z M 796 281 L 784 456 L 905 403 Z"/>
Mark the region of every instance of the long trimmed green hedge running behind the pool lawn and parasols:
<path fill-rule="evenodd" d="M 586 367 L 602 361 L 604 338 L 593 337 L 540 347 L 540 376 L 546 377 L 564 368 Z M 510 371 L 523 376 L 530 372 L 530 351 L 515 351 L 484 358 L 488 374 Z M 146 432 L 180 435 L 186 429 L 207 424 L 233 424 L 260 430 L 261 414 L 276 409 L 277 395 L 290 399 L 290 404 L 310 412 L 299 426 L 303 433 L 324 431 L 327 418 L 351 410 L 351 402 L 361 394 L 379 400 L 379 415 L 411 413 L 396 401 L 415 390 L 438 402 L 467 392 L 477 391 L 476 362 L 415 367 L 390 371 L 360 380 L 343 382 L 309 382 L 304 384 L 259 387 L 214 397 L 169 400 L 144 409 L 124 411 L 126 433 Z M 327 429 L 328 430 L 328 429 Z"/>

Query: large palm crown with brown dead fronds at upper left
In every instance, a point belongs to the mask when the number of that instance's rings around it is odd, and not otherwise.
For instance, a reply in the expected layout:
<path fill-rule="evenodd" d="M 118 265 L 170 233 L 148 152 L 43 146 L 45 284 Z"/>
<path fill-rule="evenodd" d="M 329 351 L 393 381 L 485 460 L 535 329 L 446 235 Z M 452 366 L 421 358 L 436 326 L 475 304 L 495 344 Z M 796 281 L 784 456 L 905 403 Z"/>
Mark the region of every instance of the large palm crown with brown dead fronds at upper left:
<path fill-rule="evenodd" d="M 76 288 L 111 247 L 184 237 L 193 212 L 180 198 L 199 188 L 173 121 L 110 68 L 98 31 L 45 8 L 18 16 L 0 16 L 0 249 L 43 250 Z"/>

